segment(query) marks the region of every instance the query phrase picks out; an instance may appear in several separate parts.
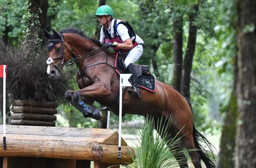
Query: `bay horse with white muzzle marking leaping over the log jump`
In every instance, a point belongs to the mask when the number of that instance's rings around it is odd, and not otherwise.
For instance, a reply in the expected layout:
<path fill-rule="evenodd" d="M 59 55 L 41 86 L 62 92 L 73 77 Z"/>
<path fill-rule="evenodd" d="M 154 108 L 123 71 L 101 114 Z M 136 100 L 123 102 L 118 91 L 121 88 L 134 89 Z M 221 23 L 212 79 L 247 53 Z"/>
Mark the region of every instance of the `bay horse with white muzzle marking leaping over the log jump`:
<path fill-rule="evenodd" d="M 59 41 L 51 40 L 55 43 L 50 43 L 52 50 L 48 52 L 48 61 L 51 60 L 52 63 L 48 66 L 48 74 L 52 77 L 60 76 L 65 63 L 70 59 L 80 59 L 76 62 L 79 71 L 76 81 L 80 89 L 67 92 L 74 94 L 74 97 L 78 96 L 86 104 L 93 104 L 94 101 L 97 101 L 106 105 L 114 114 L 118 115 L 119 102 L 114 101 L 116 95 L 119 94 L 119 75 L 113 69 L 115 54 L 107 52 L 105 49 L 100 51 L 99 49 L 102 47 L 96 40 L 88 38 L 76 28 L 62 29 L 61 32 L 52 30 L 53 34 L 46 31 L 46 36 L 54 37 Z M 93 53 L 96 50 L 98 52 Z M 84 59 L 82 59 L 83 57 Z M 200 160 L 205 163 L 207 168 L 215 167 L 211 144 L 194 126 L 190 102 L 173 87 L 159 81 L 156 82 L 155 92 L 141 89 L 141 93 L 141 99 L 136 99 L 130 97 L 126 91 L 123 92 L 123 113 L 143 116 L 151 114 L 154 116 L 155 122 L 162 116 L 167 119 L 171 116 L 171 127 L 168 133 L 171 136 L 178 134 L 181 137 L 181 144 L 177 145 L 176 150 L 181 151 L 183 146 L 187 150 L 197 149 L 189 152 L 194 167 L 202 167 Z M 207 144 L 210 154 L 200 145 L 199 141 Z M 184 154 L 175 157 L 181 168 L 188 167 Z M 210 157 L 213 157 L 213 161 Z"/>

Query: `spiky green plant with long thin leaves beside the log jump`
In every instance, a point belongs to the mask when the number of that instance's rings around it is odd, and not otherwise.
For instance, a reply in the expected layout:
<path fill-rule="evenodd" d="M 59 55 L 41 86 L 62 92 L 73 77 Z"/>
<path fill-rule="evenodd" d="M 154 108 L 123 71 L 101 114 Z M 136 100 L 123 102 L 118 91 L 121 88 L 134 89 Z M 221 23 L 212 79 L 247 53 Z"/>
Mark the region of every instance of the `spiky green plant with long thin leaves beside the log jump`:
<path fill-rule="evenodd" d="M 156 119 L 155 119 L 156 120 Z M 140 120 L 139 124 L 143 124 Z M 172 168 L 176 167 L 178 162 L 173 158 L 179 156 L 184 151 L 175 149 L 180 143 L 180 138 L 177 135 L 168 133 L 171 126 L 171 120 L 157 119 L 146 116 L 145 124 L 142 129 L 138 130 L 137 140 L 139 144 L 135 144 L 136 158 L 133 158 L 133 163 L 125 165 L 127 168 Z M 154 132 L 154 128 L 156 132 Z M 179 133 L 178 133 L 179 134 Z M 188 150 L 187 150 L 188 151 Z M 130 151 L 129 151 L 130 152 Z"/>

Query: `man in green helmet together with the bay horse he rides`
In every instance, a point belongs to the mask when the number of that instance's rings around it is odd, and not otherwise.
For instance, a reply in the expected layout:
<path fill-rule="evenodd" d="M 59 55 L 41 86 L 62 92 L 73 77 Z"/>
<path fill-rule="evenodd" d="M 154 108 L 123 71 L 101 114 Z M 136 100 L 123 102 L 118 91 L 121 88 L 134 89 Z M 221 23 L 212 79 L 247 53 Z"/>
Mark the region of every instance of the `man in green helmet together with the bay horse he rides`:
<path fill-rule="evenodd" d="M 119 90 L 119 74 L 116 72 L 117 56 L 106 51 L 106 47 L 113 47 L 116 52 L 129 49 L 125 67 L 128 73 L 133 74 L 133 84 L 138 86 L 131 63 L 141 56 L 143 41 L 133 33 L 127 22 L 112 18 L 113 11 L 110 7 L 100 7 L 95 15 L 98 16 L 98 21 L 103 26 L 100 41 L 105 42 L 104 47 L 76 28 L 62 29 L 60 32 L 52 29 L 53 34 L 46 31 L 46 36 L 49 38 L 47 73 L 51 77 L 57 78 L 61 76 L 61 70 L 64 67 L 76 64 L 78 67 L 76 81 L 79 89 L 68 90 L 65 96 L 83 113 L 84 117 L 99 120 L 103 116 L 93 106 L 94 101 L 107 106 L 114 114 L 119 114 L 119 99 L 116 95 L 119 95 L 121 90 Z M 126 34 L 122 33 L 124 29 Z M 171 127 L 167 130 L 168 135 L 170 138 L 180 138 L 181 141 L 172 150 L 182 151 L 183 146 L 187 150 L 193 149 L 188 154 L 195 168 L 202 168 L 201 160 L 205 163 L 206 168 L 214 168 L 212 146 L 196 130 L 190 102 L 168 84 L 155 81 L 155 85 L 157 89 L 153 92 L 147 89 L 138 90 L 139 88 L 135 87 L 132 93 L 135 93 L 135 96 L 141 96 L 140 99 L 134 98 L 124 91 L 122 96 L 123 115 L 152 115 L 155 127 L 164 127 L 164 125 L 159 125 L 160 118 L 172 119 Z M 204 142 L 210 151 L 207 151 L 200 142 Z M 178 160 L 181 168 L 188 167 L 186 156 L 182 152 L 174 157 Z M 212 157 L 213 159 L 211 159 Z"/>

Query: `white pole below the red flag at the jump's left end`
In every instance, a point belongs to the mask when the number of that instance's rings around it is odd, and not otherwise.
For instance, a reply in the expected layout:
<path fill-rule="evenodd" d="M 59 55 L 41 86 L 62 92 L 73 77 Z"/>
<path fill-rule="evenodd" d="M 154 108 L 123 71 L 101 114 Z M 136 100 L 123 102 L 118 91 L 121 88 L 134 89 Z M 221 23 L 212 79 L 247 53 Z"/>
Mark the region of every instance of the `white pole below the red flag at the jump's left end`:
<path fill-rule="evenodd" d="M 5 139 L 5 88 L 6 88 L 6 65 L 3 66 L 3 148 L 6 149 L 6 139 Z"/>

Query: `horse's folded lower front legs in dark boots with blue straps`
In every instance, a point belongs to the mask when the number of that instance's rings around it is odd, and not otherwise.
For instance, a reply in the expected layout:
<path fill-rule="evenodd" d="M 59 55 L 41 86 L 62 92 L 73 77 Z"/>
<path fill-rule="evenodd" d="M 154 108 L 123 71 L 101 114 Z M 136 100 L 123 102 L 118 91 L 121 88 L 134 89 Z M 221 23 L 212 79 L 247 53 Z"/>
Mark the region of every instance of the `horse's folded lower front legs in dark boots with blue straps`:
<path fill-rule="evenodd" d="M 77 94 L 76 98 L 74 98 L 72 95 L 74 95 L 75 91 L 76 90 L 66 91 L 65 97 L 70 101 L 70 103 L 74 107 L 76 107 L 80 112 L 82 112 L 85 118 L 90 117 L 96 120 L 104 119 L 103 114 L 98 110 L 97 107 L 93 105 L 94 100 L 92 98 L 86 96 L 78 96 Z M 86 104 L 88 104 L 89 106 L 87 106 Z"/>

